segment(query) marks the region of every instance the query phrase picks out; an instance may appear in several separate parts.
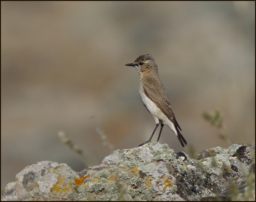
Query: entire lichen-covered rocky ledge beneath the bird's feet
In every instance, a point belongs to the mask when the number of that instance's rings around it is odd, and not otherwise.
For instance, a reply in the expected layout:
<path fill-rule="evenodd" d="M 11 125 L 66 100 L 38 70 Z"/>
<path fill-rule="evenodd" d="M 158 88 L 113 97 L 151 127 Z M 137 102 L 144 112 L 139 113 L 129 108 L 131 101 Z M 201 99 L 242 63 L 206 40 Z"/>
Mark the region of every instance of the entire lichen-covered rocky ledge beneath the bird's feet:
<path fill-rule="evenodd" d="M 255 147 L 233 144 L 197 159 L 157 142 L 117 150 L 75 172 L 43 161 L 8 183 L 2 200 L 255 200 Z"/>

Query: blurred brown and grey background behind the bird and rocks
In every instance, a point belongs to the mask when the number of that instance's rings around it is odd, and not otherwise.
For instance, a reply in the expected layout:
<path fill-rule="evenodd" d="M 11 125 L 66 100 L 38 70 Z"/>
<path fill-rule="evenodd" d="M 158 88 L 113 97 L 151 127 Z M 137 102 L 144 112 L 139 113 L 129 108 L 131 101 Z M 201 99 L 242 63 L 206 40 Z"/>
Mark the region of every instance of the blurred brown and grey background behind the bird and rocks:
<path fill-rule="evenodd" d="M 255 2 L 1 2 L 1 190 L 30 163 L 85 168 L 155 128 L 132 63 L 151 54 L 196 153 L 230 146 L 203 118 L 219 109 L 232 143 L 255 145 Z M 156 141 L 159 128 L 153 141 Z"/>

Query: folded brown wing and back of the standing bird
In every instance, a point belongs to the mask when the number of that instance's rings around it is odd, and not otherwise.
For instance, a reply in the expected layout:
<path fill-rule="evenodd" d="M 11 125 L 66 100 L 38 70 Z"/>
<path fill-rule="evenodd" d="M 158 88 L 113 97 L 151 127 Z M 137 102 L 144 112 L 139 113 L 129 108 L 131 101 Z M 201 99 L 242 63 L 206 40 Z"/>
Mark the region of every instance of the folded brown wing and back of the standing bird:
<path fill-rule="evenodd" d="M 159 107 L 159 109 L 174 123 L 180 130 L 178 122 L 175 119 L 174 113 L 171 109 L 170 101 L 167 96 L 166 90 L 164 89 L 161 81 L 147 78 L 142 81 L 145 94 Z"/>

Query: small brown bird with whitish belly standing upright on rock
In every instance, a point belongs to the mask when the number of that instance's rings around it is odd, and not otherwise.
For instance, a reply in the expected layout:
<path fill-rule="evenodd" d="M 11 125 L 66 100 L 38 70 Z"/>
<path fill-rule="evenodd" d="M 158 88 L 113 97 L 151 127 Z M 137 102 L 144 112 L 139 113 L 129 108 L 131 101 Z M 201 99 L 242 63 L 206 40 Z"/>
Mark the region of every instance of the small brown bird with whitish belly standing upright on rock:
<path fill-rule="evenodd" d="M 133 63 L 125 64 L 125 66 L 134 67 L 137 73 L 139 73 L 140 99 L 149 113 L 154 117 L 156 123 L 156 127 L 149 140 L 140 144 L 139 147 L 151 142 L 159 124 L 161 128 L 157 142 L 159 141 L 164 125 L 166 125 L 175 133 L 182 147 L 184 147 L 184 144 L 187 145 L 187 141 L 180 133 L 181 128 L 176 121 L 168 95 L 159 78 L 158 68 L 154 58 L 150 54 L 141 55 Z"/>

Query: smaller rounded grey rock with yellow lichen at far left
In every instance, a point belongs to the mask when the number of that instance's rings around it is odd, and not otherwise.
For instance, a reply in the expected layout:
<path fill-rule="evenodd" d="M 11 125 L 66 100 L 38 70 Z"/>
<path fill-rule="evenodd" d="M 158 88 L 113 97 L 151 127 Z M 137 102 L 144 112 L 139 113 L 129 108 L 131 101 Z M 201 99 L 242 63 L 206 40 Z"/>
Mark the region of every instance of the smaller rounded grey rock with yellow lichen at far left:
<path fill-rule="evenodd" d="M 78 174 L 66 164 L 42 161 L 24 168 L 16 182 L 8 183 L 2 200 L 74 200 L 78 195 L 75 179 Z"/>

